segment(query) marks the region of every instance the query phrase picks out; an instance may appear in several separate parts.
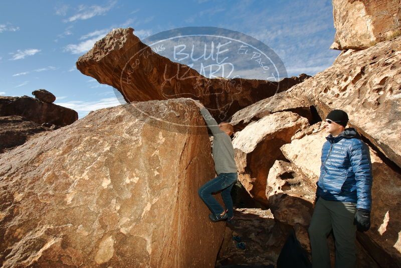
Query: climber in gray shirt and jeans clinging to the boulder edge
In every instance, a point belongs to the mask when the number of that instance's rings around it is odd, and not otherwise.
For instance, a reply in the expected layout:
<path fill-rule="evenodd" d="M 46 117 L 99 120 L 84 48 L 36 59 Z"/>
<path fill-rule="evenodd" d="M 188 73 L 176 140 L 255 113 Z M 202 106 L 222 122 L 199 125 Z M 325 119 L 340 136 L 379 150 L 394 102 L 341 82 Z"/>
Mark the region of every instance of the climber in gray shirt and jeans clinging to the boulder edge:
<path fill-rule="evenodd" d="M 214 138 L 213 160 L 215 161 L 216 174 L 218 175 L 200 187 L 198 194 L 212 212 L 212 214 L 209 214 L 209 218 L 212 221 L 227 219 L 232 222 L 234 212 L 231 189 L 238 178 L 237 165 L 234 160 L 234 148 L 230 138 L 233 135 L 234 128 L 228 122 L 218 124 L 202 103 L 196 100 L 194 100 L 194 103 L 199 107 L 200 113 L 212 131 Z M 226 209 L 212 195 L 212 193 L 219 191 L 221 191 Z"/>

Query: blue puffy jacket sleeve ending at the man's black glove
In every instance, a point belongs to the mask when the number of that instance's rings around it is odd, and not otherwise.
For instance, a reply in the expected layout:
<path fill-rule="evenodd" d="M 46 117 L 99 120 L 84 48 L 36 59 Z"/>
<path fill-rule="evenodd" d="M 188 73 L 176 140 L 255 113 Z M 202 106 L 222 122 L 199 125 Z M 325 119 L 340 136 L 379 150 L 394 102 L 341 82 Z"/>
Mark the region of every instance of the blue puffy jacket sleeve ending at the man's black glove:
<path fill-rule="evenodd" d="M 349 152 L 350 164 L 356 181 L 356 208 L 371 210 L 372 164 L 369 149 L 360 140 L 352 143 Z"/>

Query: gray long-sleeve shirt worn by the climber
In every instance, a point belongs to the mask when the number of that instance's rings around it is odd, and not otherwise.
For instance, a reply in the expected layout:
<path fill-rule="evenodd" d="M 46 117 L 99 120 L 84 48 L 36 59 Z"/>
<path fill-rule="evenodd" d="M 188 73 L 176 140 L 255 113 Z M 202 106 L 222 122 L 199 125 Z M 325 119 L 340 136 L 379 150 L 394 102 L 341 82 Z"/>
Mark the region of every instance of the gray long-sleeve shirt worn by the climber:
<path fill-rule="evenodd" d="M 217 175 L 220 173 L 236 173 L 237 165 L 234 160 L 234 148 L 230 136 L 220 130 L 218 123 L 204 107 L 200 113 L 213 134 L 213 160 Z"/>

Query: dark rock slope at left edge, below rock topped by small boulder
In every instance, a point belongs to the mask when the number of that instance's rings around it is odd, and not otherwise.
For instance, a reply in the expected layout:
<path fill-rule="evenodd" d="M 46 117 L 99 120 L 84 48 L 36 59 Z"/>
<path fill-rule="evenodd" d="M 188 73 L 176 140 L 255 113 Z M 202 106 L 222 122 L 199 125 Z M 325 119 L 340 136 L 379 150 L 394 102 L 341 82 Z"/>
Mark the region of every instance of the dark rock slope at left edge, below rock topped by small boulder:
<path fill-rule="evenodd" d="M 24 144 L 36 133 L 49 130 L 22 116 L 0 116 L 0 154 Z"/>

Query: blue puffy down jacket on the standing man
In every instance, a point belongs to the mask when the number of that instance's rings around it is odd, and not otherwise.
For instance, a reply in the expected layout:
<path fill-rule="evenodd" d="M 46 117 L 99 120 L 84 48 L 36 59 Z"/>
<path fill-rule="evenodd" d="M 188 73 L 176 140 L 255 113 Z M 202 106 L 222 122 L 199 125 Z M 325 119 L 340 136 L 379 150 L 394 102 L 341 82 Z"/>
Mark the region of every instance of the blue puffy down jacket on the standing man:
<path fill-rule="evenodd" d="M 354 202 L 371 209 L 372 164 L 369 149 L 354 128 L 326 137 L 316 195 L 324 200 Z"/>

